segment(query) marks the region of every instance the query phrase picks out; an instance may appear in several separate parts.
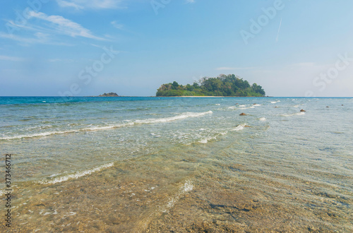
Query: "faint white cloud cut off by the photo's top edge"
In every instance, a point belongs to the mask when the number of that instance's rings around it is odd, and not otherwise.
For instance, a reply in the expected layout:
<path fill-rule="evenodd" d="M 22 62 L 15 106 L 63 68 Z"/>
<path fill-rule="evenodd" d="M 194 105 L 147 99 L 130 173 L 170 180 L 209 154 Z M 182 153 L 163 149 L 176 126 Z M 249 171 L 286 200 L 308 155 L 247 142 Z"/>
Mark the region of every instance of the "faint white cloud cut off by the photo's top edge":
<path fill-rule="evenodd" d="M 92 9 L 110 9 L 117 8 L 122 0 L 56 0 L 61 7 L 76 8 L 82 10 L 85 8 Z"/>

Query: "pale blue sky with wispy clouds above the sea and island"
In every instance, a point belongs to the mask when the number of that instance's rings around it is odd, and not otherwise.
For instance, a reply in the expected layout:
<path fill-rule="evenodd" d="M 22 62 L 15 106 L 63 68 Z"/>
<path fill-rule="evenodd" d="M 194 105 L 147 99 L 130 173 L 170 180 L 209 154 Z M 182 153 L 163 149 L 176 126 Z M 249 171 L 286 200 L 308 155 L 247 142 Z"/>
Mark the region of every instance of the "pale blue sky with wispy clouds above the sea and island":
<path fill-rule="evenodd" d="M 0 0 L 0 96 L 154 96 L 235 75 L 353 96 L 350 0 Z"/>

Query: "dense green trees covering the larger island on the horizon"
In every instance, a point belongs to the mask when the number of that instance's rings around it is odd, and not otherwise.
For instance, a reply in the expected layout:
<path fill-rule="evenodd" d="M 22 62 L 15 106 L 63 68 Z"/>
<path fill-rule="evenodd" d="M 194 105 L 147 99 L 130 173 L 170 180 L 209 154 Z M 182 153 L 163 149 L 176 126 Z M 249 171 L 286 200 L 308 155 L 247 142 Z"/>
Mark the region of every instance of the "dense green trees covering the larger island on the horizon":
<path fill-rule="evenodd" d="M 261 85 L 253 83 L 250 85 L 247 80 L 239 78 L 234 74 L 221 74 L 217 78 L 201 78 L 193 85 L 179 85 L 173 83 L 162 84 L 158 88 L 156 96 L 242 96 L 262 97 L 265 91 Z"/>

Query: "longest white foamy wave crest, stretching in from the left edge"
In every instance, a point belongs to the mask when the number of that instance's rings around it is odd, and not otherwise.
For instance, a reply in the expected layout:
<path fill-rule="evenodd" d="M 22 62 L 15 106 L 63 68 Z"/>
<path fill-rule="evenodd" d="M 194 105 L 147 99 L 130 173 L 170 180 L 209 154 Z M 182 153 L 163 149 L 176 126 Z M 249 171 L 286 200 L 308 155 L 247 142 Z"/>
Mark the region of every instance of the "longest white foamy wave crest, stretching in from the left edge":
<path fill-rule="evenodd" d="M 43 133 L 33 133 L 33 134 L 25 134 L 25 135 L 18 135 L 18 136 L 6 136 L 6 137 L 0 138 L 0 140 L 35 138 L 35 137 L 50 136 L 50 135 L 54 135 L 54 134 L 75 133 L 75 132 L 79 132 L 79 131 L 100 131 L 100 130 L 120 128 L 120 127 L 124 127 L 124 126 L 133 126 L 134 124 L 154 124 L 154 123 L 162 123 L 162 122 L 168 122 L 168 121 L 177 121 L 177 120 L 186 119 L 189 117 L 202 117 L 206 114 L 213 114 L 213 112 L 212 111 L 185 112 L 185 113 L 180 114 L 175 117 L 152 118 L 152 119 L 136 120 L 136 121 L 126 120 L 126 121 L 128 121 L 128 123 L 124 123 L 124 124 L 114 124 L 114 125 L 110 125 L 110 126 L 94 126 L 94 127 L 89 127 L 89 128 L 83 128 L 83 129 L 71 129 L 68 131 L 49 131 L 49 132 L 43 132 Z"/>

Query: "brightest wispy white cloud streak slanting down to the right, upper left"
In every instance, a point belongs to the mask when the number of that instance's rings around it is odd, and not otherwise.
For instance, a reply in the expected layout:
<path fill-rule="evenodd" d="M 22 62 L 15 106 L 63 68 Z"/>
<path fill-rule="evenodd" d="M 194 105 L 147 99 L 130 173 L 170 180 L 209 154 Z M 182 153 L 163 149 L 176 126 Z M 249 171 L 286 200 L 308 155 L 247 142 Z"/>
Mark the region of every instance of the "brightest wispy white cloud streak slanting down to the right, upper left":
<path fill-rule="evenodd" d="M 51 23 L 51 27 L 54 28 L 55 32 L 59 32 L 61 34 L 70 35 L 71 37 L 80 36 L 95 40 L 105 40 L 101 37 L 92 35 L 90 30 L 83 28 L 80 24 L 68 20 L 62 16 L 48 16 L 45 13 L 35 11 L 30 11 L 29 16 L 30 18 L 38 18 Z"/>

